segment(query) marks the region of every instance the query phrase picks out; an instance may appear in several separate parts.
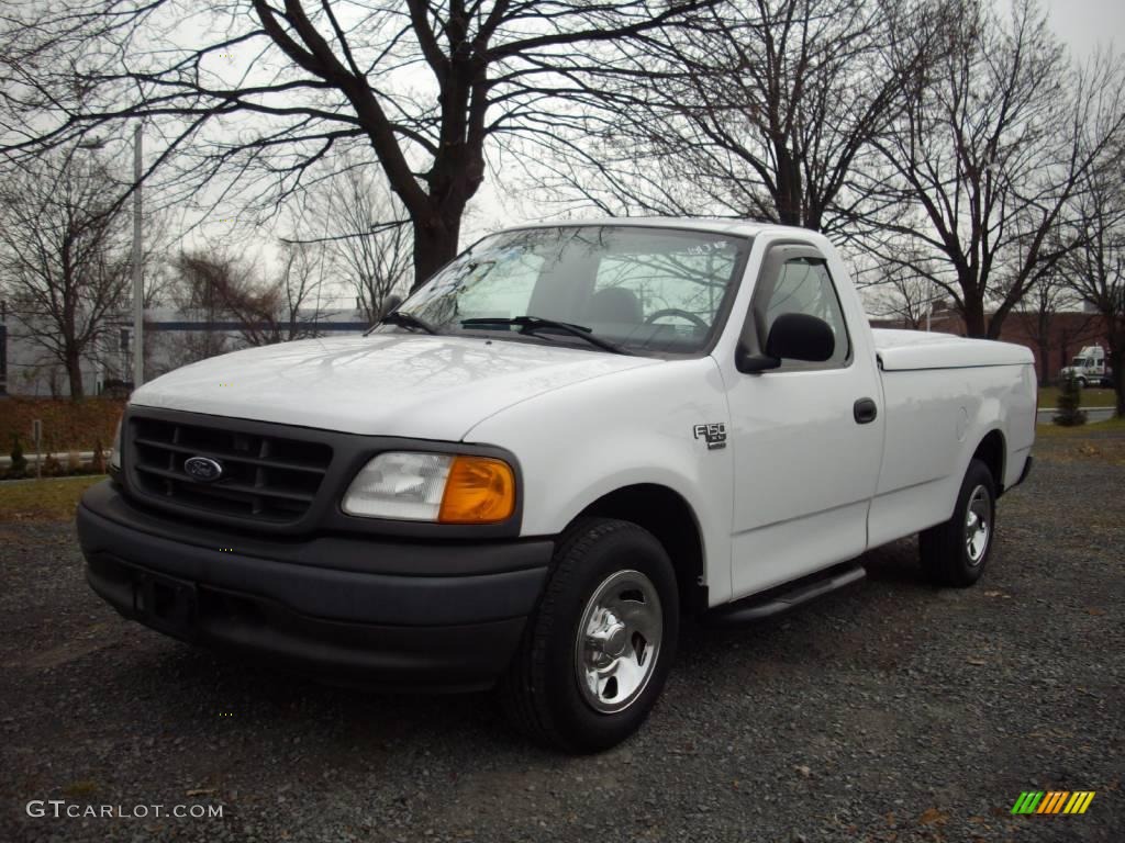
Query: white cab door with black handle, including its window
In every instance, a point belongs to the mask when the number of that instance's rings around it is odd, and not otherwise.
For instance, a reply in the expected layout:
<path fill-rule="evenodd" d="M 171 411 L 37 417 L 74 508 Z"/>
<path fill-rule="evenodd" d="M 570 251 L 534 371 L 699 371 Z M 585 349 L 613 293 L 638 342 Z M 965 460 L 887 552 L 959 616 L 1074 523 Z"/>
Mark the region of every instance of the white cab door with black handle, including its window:
<path fill-rule="evenodd" d="M 858 302 L 849 302 L 847 312 L 854 318 L 857 311 Z M 825 257 L 811 246 L 774 245 L 745 315 L 742 336 L 752 351 L 764 348 L 774 320 L 791 312 L 829 325 L 835 336 L 829 360 L 783 360 L 778 369 L 756 374 L 728 369 L 736 598 L 866 549 L 883 441 L 879 375 L 873 361 L 856 360 Z M 858 411 L 861 401 L 867 410 L 874 402 L 873 418 Z"/>

